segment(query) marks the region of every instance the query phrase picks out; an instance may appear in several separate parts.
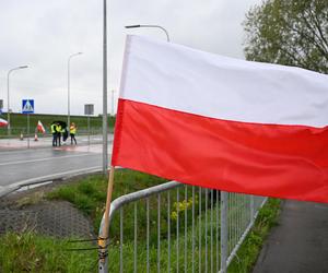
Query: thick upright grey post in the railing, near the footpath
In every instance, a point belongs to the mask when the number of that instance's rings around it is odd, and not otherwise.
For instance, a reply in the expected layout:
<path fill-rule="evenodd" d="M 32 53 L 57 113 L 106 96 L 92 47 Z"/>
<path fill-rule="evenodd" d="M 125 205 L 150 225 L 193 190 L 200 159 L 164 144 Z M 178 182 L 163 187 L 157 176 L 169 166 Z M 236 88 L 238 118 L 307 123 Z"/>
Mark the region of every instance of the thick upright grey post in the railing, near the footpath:
<path fill-rule="evenodd" d="M 226 273 L 227 260 L 227 192 L 221 191 L 221 272 Z"/>

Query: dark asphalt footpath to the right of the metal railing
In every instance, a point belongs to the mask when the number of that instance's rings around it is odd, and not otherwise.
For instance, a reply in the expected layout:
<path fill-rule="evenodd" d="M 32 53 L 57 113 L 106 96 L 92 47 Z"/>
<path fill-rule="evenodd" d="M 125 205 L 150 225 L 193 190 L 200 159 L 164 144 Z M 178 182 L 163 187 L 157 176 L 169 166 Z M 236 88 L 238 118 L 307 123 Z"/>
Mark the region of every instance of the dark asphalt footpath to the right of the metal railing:
<path fill-rule="evenodd" d="M 328 272 L 328 204 L 285 201 L 253 273 Z"/>

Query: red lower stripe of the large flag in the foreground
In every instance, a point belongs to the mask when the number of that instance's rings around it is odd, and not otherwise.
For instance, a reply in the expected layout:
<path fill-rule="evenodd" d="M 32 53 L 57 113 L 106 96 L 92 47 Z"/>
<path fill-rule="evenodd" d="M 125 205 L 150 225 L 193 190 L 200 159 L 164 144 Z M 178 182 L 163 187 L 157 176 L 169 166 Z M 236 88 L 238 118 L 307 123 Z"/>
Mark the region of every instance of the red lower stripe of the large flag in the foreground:
<path fill-rule="evenodd" d="M 119 99 L 113 166 L 180 182 L 328 202 L 328 129 L 227 121 Z"/>

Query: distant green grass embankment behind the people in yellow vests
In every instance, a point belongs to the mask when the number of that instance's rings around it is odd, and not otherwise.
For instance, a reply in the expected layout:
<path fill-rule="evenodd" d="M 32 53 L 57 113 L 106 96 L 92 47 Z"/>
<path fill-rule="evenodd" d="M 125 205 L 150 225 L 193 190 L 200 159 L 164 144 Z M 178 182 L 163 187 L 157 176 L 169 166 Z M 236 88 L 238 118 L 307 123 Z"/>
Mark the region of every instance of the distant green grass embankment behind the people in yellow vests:
<path fill-rule="evenodd" d="M 7 114 L 0 115 L 0 118 L 7 120 Z M 23 132 L 27 132 L 27 116 L 22 114 L 11 114 L 11 128 L 12 135 L 17 136 Z M 85 116 L 71 116 L 71 122 L 74 122 L 78 126 L 78 134 L 81 132 L 87 131 L 87 118 Z M 30 115 L 30 132 L 34 134 L 37 121 L 40 120 L 44 124 L 46 132 L 50 133 L 50 124 L 52 121 L 62 120 L 67 121 L 66 115 L 45 115 L 45 114 L 31 114 Z M 91 132 L 101 132 L 102 130 L 102 117 L 90 117 L 90 128 Z M 115 124 L 115 118 L 108 117 L 108 128 L 113 132 Z M 0 136 L 7 136 L 7 128 L 0 128 Z"/>

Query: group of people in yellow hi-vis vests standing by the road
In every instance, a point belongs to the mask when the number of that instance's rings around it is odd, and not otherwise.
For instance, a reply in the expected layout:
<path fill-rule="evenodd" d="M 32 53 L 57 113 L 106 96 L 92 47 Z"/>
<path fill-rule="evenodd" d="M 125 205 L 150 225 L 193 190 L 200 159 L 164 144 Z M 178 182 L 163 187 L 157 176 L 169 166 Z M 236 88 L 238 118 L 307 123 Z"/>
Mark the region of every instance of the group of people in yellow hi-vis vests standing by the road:
<path fill-rule="evenodd" d="M 67 129 L 66 123 L 63 124 L 62 122 L 54 122 L 50 126 L 51 133 L 52 133 L 52 146 L 60 146 L 61 145 L 61 136 L 62 136 L 62 143 L 65 144 L 68 135 L 70 134 L 71 136 L 71 145 L 77 143 L 75 134 L 77 134 L 77 126 L 74 122 L 70 124 L 69 131 Z"/>

